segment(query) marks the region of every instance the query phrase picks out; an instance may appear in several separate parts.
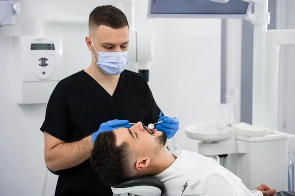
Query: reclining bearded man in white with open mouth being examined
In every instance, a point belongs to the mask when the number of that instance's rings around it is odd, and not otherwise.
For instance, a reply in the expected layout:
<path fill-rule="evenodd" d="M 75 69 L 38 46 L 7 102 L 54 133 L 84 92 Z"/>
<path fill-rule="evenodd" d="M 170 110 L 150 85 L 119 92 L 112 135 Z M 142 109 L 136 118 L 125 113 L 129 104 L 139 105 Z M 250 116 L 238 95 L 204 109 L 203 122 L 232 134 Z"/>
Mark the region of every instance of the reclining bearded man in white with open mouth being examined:
<path fill-rule="evenodd" d="M 154 176 L 165 187 L 165 196 L 263 196 L 275 194 L 266 184 L 253 191 L 216 161 L 186 150 L 175 154 L 166 148 L 166 134 L 149 130 L 142 123 L 130 129 L 119 128 L 100 133 L 95 140 L 90 163 L 107 185 L 128 178 Z M 259 190 L 259 191 L 258 191 Z"/>

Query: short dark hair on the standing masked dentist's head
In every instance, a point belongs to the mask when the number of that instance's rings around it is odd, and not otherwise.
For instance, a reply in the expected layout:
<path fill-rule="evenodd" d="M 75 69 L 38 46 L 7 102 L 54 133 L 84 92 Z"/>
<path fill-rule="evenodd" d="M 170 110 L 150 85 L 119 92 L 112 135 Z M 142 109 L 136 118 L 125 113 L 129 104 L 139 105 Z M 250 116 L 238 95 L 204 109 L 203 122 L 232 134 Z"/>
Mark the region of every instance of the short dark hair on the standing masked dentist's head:
<path fill-rule="evenodd" d="M 89 28 L 98 27 L 100 25 L 109 26 L 111 28 L 122 28 L 128 26 L 125 14 L 112 5 L 102 5 L 94 8 L 89 15 Z"/>

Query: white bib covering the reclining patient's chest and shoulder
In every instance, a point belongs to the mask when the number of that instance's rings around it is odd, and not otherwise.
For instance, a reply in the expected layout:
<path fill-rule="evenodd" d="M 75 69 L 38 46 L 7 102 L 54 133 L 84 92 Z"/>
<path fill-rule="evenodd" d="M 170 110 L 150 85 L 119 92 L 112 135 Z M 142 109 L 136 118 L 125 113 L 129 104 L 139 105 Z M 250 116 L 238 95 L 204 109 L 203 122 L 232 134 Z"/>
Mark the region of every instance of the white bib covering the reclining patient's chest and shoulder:
<path fill-rule="evenodd" d="M 200 195 L 205 196 L 207 189 L 204 179 L 210 175 L 222 176 L 233 187 L 236 196 L 244 196 L 245 191 L 249 192 L 241 180 L 232 172 L 226 170 L 213 159 L 187 150 L 175 152 L 176 161 L 164 172 L 154 176 L 160 179 L 165 187 L 164 196 L 180 196 L 182 186 L 187 181 L 187 187 L 183 196 Z"/>

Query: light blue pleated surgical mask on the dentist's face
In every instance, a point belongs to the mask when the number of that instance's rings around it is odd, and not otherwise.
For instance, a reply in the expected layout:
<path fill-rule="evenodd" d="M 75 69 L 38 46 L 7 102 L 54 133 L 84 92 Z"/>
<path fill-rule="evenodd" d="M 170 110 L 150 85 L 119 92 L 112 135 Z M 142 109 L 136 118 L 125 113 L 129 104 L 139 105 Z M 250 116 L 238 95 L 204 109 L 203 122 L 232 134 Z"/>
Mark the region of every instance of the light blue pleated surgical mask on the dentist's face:
<path fill-rule="evenodd" d="M 92 39 L 91 43 L 95 49 Z M 97 66 L 108 75 L 118 75 L 125 70 L 126 65 L 129 63 L 128 51 L 122 52 L 103 52 L 95 51 L 98 53 L 98 60 L 96 61 L 94 53 L 92 55 Z"/>

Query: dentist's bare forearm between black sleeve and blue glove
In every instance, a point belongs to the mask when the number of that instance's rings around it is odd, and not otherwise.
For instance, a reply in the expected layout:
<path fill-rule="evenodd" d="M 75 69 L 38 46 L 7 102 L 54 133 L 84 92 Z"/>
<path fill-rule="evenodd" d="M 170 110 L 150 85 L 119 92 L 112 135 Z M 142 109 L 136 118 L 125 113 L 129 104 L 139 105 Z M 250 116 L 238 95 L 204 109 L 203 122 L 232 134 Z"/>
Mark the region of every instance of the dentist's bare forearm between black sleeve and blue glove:
<path fill-rule="evenodd" d="M 45 151 L 45 162 L 53 172 L 72 168 L 89 159 L 92 148 L 92 135 L 78 142 L 59 144 Z"/>

